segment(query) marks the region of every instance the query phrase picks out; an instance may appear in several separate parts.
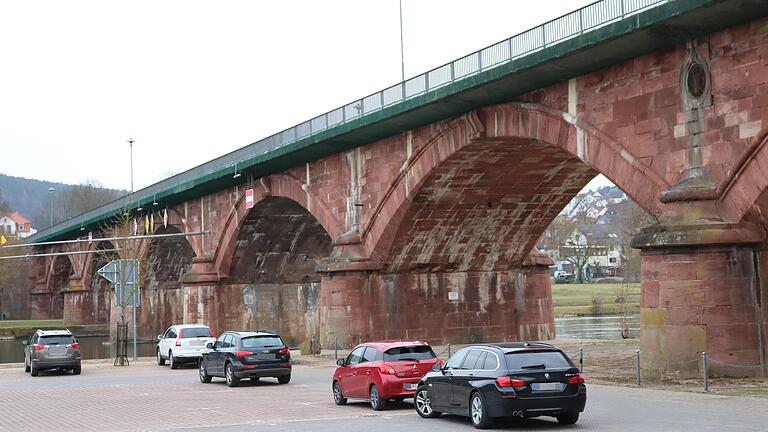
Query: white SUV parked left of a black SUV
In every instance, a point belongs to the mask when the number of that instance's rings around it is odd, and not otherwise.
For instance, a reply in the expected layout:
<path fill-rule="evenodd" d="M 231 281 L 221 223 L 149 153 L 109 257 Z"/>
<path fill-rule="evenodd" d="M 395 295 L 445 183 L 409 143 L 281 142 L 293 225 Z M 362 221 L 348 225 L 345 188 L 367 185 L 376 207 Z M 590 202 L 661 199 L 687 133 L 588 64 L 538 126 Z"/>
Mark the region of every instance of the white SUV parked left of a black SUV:
<path fill-rule="evenodd" d="M 168 327 L 164 334 L 157 336 L 157 341 L 157 364 L 162 366 L 167 359 L 171 369 L 177 369 L 182 363 L 197 363 L 205 346 L 216 338 L 203 324 L 179 324 Z"/>

